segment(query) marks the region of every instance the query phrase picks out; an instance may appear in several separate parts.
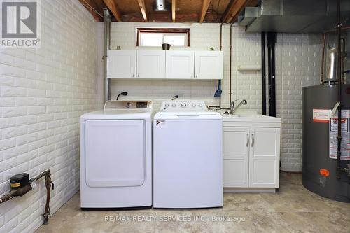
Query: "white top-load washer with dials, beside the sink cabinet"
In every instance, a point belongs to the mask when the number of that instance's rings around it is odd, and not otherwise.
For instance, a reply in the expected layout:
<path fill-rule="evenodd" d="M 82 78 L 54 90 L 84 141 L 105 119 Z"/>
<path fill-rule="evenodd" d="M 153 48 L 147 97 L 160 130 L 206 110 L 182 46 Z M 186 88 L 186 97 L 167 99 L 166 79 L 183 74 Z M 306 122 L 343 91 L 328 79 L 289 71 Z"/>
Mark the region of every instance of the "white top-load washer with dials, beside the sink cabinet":
<path fill-rule="evenodd" d="M 153 207 L 223 206 L 223 123 L 204 101 L 164 101 L 153 121 Z"/>

